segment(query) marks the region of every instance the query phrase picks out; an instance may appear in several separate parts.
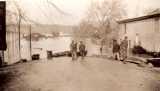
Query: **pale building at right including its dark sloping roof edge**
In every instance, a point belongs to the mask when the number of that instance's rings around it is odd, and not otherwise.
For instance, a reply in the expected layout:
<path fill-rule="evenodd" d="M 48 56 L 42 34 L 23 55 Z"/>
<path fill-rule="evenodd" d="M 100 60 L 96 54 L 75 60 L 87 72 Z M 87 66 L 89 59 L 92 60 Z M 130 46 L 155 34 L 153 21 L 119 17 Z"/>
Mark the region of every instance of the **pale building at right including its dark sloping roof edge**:
<path fill-rule="evenodd" d="M 160 13 L 124 19 L 118 23 L 119 38 L 128 36 L 129 48 L 141 45 L 148 51 L 160 51 Z"/>

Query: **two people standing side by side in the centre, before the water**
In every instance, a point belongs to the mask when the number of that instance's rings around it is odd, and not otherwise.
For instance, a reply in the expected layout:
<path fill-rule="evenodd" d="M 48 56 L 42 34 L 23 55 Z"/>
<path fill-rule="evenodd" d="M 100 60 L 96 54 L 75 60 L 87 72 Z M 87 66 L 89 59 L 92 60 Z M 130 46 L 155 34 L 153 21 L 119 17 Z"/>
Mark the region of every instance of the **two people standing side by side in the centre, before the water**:
<path fill-rule="evenodd" d="M 79 53 L 80 53 L 81 58 L 84 59 L 85 51 L 86 51 L 85 44 L 83 43 L 83 41 L 80 41 L 78 45 L 76 41 L 72 40 L 72 43 L 70 44 L 72 60 L 77 60 L 78 48 L 79 48 Z"/>

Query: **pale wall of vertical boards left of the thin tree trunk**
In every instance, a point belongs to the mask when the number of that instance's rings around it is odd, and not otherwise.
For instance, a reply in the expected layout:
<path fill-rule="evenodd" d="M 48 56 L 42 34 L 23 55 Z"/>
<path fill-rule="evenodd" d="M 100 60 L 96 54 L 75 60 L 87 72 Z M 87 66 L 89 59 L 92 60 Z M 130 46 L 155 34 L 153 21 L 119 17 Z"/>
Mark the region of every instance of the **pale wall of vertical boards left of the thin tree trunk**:
<path fill-rule="evenodd" d="M 7 26 L 6 32 L 6 40 L 7 40 L 7 50 L 4 52 L 5 62 L 8 64 L 15 63 L 19 61 L 19 41 L 18 41 L 18 32 L 16 31 L 16 27 Z"/>

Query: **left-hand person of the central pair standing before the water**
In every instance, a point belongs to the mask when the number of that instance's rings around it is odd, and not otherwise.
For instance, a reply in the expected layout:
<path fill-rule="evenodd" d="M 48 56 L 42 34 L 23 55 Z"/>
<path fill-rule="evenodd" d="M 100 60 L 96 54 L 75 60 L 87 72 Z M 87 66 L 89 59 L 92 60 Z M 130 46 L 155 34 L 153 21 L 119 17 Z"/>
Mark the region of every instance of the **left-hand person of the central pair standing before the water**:
<path fill-rule="evenodd" d="M 71 49 L 72 60 L 76 60 L 77 59 L 77 43 L 74 40 L 70 45 L 70 49 Z"/>

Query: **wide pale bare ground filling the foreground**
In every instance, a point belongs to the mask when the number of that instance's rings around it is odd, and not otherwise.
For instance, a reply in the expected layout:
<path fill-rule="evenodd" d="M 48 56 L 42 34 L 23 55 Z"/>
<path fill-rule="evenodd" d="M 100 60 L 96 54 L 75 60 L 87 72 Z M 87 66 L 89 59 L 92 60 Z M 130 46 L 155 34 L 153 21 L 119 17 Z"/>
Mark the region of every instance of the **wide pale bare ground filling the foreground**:
<path fill-rule="evenodd" d="M 160 91 L 158 69 L 93 57 L 41 60 L 0 72 L 0 91 Z"/>

